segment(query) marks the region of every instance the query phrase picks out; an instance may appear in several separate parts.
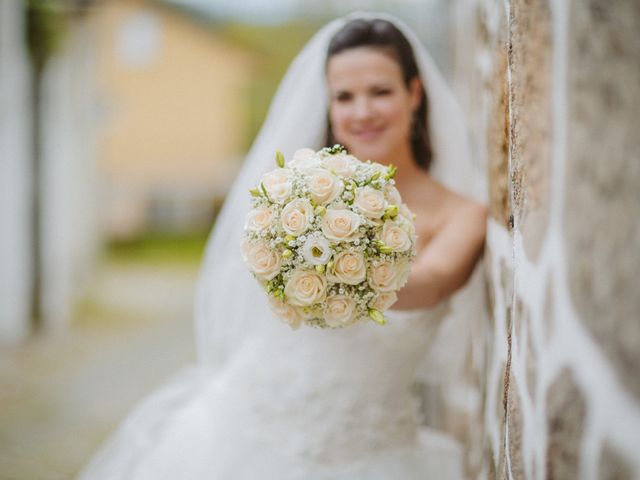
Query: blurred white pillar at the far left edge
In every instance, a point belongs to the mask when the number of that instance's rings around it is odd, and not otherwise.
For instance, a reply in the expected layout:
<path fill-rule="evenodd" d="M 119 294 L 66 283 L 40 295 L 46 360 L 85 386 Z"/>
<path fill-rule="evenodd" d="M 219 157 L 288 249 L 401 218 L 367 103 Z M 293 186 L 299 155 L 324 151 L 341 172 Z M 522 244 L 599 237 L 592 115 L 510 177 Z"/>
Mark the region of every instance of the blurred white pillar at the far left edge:
<path fill-rule="evenodd" d="M 0 2 L 0 340 L 29 317 L 29 75 L 22 6 Z"/>

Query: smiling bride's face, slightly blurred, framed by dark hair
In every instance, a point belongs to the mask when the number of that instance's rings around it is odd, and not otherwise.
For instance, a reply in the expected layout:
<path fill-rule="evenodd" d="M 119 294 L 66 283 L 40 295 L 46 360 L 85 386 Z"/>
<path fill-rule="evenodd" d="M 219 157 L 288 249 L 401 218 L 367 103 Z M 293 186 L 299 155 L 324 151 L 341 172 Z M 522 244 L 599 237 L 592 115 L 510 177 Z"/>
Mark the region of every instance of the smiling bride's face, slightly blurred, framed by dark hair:
<path fill-rule="evenodd" d="M 358 47 L 329 58 L 329 116 L 336 140 L 362 160 L 393 162 L 410 150 L 411 119 L 420 81 L 407 87 L 400 65 L 387 53 Z M 408 149 L 408 150 L 407 150 Z"/>

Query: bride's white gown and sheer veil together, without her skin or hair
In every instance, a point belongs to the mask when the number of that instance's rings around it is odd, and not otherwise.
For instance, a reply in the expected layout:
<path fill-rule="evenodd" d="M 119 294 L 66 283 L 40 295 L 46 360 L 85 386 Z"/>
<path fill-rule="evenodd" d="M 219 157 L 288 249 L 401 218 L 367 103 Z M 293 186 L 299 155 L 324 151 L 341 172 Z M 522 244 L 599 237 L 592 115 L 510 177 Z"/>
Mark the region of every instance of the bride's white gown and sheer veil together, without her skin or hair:
<path fill-rule="evenodd" d="M 405 26 L 375 16 L 410 40 L 433 99 L 432 175 L 469 194 L 464 125 L 450 91 Z M 464 293 L 433 309 L 389 311 L 385 326 L 293 331 L 240 260 L 247 190 L 272 167 L 272 152 L 321 146 L 326 47 L 350 18 L 322 29 L 293 63 L 219 216 L 196 304 L 201 363 L 143 401 L 81 479 L 463 478 L 459 445 L 420 426 L 412 388 L 430 374 L 429 352 L 443 330 L 464 343 Z M 452 359 L 458 347 L 440 350 Z"/>

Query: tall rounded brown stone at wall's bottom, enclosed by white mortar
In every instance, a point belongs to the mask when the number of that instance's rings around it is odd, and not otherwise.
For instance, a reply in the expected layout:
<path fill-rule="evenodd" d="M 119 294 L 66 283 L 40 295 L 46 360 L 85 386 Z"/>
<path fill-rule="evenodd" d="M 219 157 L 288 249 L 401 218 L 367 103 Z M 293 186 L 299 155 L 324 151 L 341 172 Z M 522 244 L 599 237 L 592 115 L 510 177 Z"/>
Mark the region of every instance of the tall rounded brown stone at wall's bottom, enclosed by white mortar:
<path fill-rule="evenodd" d="M 579 449 L 586 405 L 573 375 L 563 370 L 547 391 L 547 480 L 580 478 Z"/>

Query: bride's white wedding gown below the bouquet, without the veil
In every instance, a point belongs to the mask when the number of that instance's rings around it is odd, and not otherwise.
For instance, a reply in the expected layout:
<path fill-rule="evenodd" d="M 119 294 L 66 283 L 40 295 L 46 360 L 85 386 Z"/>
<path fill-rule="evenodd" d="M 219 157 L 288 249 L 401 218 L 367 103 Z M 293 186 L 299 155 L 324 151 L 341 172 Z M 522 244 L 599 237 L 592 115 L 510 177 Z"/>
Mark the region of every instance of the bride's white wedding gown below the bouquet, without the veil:
<path fill-rule="evenodd" d="M 341 330 L 265 318 L 221 372 L 148 398 L 82 478 L 461 479 L 460 447 L 420 427 L 412 394 L 447 306 Z"/>

